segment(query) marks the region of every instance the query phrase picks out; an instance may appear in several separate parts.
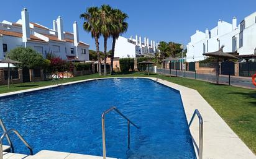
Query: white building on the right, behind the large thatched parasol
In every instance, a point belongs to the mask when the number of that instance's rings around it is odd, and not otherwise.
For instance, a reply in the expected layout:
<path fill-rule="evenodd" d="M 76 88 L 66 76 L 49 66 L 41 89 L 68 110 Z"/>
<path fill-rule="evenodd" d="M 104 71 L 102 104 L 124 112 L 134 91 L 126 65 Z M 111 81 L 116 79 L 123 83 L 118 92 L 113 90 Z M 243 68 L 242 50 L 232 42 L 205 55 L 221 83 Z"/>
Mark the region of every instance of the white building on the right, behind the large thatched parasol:
<path fill-rule="evenodd" d="M 187 45 L 186 61 L 205 59 L 203 53 L 217 51 L 224 45 L 224 52 L 237 51 L 240 55 L 256 52 L 256 12 L 245 17 L 237 26 L 237 19 L 232 24 L 219 20 L 217 26 L 205 32 L 196 30 Z"/>

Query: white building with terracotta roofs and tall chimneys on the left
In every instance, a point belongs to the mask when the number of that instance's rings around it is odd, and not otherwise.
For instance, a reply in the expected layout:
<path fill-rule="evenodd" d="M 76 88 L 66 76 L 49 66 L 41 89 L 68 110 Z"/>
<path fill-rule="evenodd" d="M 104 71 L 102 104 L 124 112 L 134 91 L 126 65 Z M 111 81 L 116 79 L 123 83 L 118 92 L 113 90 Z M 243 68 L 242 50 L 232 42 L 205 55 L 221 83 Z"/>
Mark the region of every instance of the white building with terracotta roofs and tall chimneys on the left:
<path fill-rule="evenodd" d="M 53 20 L 53 28 L 30 22 L 29 12 L 22 9 L 21 19 L 16 23 L 3 20 L 0 23 L 0 59 L 17 46 L 34 48 L 45 57 L 52 51 L 62 59 L 89 60 L 89 45 L 79 40 L 78 25 L 73 24 L 73 33 L 63 31 L 63 19 Z"/>

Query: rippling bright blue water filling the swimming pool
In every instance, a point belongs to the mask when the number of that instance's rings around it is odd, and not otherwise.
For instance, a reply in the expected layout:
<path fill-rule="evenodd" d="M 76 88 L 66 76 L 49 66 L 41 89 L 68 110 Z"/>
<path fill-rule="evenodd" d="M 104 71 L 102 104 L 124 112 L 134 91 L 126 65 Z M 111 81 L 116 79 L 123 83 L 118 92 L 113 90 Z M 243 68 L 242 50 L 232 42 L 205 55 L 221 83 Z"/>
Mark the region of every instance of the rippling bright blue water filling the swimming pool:
<path fill-rule="evenodd" d="M 196 158 L 180 93 L 149 79 L 93 80 L 0 98 L 1 118 L 40 150 L 102 154 L 101 114 L 116 106 L 140 129 L 106 115 L 106 152 L 116 158 Z M 16 152 L 29 151 L 11 136 Z"/>

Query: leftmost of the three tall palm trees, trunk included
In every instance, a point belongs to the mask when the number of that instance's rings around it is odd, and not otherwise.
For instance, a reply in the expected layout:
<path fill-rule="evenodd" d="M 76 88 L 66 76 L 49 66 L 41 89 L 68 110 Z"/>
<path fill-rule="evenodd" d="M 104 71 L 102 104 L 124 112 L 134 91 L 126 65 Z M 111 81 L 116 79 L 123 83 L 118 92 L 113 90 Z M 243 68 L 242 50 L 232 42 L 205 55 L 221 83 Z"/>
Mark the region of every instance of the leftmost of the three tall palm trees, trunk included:
<path fill-rule="evenodd" d="M 96 51 L 98 56 L 98 69 L 101 75 L 101 57 L 99 54 L 99 37 L 101 36 L 101 27 L 99 21 L 98 7 L 88 7 L 86 12 L 80 14 L 80 18 L 84 19 L 83 28 L 86 32 L 91 32 L 91 37 L 95 39 Z"/>

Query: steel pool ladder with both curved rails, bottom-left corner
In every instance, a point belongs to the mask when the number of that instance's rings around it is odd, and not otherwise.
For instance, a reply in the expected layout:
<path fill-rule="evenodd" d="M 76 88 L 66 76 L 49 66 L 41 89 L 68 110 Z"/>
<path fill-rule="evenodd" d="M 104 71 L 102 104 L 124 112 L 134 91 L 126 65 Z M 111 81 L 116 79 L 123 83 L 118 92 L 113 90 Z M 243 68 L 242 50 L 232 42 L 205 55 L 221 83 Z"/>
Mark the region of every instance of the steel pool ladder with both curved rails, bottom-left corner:
<path fill-rule="evenodd" d="M 29 148 L 29 152 L 30 152 L 30 155 L 33 155 L 33 150 L 32 148 L 30 147 L 29 144 L 27 144 L 26 140 L 21 136 L 21 134 L 19 134 L 18 131 L 16 131 L 16 129 L 6 129 L 6 126 L 4 125 L 4 122 L 2 122 L 2 119 L 0 118 L 0 124 L 1 124 L 1 127 L 2 127 L 2 130 L 4 131 L 4 134 L 2 134 L 2 136 L 0 137 L 0 159 L 3 159 L 3 153 L 2 153 L 2 140 L 4 139 L 4 137 L 7 138 L 7 142 L 9 143 L 10 145 L 10 152 L 14 153 L 14 146 L 12 145 L 12 142 L 11 142 L 11 139 L 9 137 L 9 134 L 11 132 L 14 132 L 14 134 L 17 135 L 17 137 L 19 137 L 19 139 L 21 139 L 21 141 L 23 142 L 23 144 L 25 144 L 25 146 L 27 148 Z"/>

